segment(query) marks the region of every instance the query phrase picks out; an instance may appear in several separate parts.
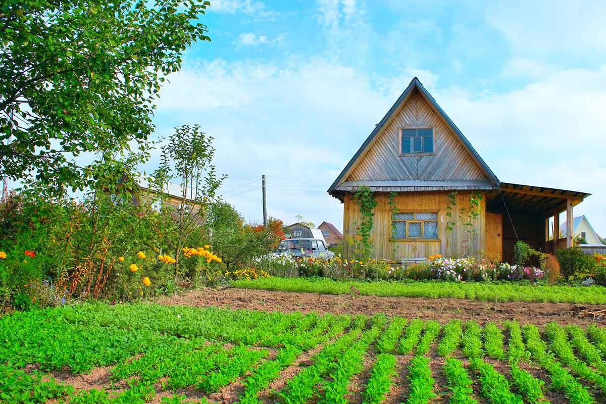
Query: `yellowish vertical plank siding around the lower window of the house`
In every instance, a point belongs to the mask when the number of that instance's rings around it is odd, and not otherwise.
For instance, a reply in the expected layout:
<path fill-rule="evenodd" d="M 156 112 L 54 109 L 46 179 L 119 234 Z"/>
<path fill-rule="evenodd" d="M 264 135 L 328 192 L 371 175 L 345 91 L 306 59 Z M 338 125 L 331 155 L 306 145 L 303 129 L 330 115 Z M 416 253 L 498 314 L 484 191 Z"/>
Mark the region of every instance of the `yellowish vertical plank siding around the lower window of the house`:
<path fill-rule="evenodd" d="M 482 194 L 483 195 L 483 194 Z M 485 198 L 479 204 L 479 215 L 473 221 L 475 234 L 464 230 L 459 219 L 461 207 L 469 208 L 470 191 L 459 191 L 454 207 L 453 231 L 446 230 L 448 217 L 446 208 L 448 206 L 448 192 L 408 192 L 399 193 L 395 197 L 395 204 L 401 212 L 437 212 L 438 213 L 438 237 L 439 240 L 392 240 L 391 239 L 391 210 L 388 202 L 388 193 L 375 193 L 377 206 L 371 231 L 371 241 L 374 245 L 375 259 L 401 260 L 404 258 L 428 257 L 435 254 L 444 256 L 484 256 L 485 250 L 485 221 L 486 205 Z M 356 235 L 358 223 L 362 217 L 359 207 L 352 194 L 345 194 L 344 214 L 344 256 L 351 259 L 354 256 L 353 238 Z M 466 221 L 462 220 L 463 222 Z"/>

